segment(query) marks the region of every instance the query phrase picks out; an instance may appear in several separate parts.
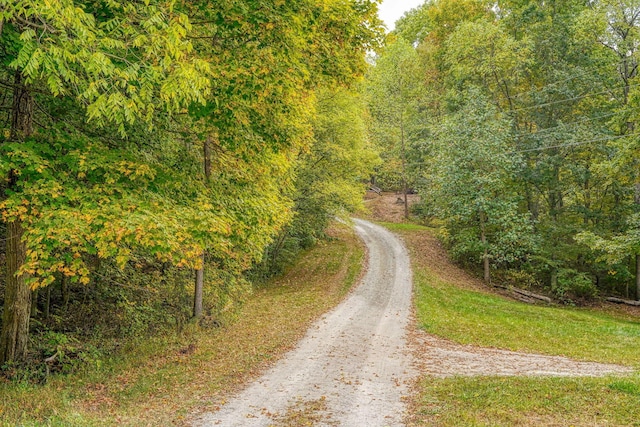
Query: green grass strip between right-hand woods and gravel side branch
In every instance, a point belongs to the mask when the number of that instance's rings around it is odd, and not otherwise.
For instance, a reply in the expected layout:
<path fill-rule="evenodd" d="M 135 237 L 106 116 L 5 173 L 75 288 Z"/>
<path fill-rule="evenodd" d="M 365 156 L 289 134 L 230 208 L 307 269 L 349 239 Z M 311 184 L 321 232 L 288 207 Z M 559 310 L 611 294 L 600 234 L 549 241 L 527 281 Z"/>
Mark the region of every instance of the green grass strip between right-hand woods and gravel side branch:
<path fill-rule="evenodd" d="M 589 309 L 545 307 L 448 286 L 414 271 L 418 324 L 464 344 L 640 368 L 640 322 Z"/>

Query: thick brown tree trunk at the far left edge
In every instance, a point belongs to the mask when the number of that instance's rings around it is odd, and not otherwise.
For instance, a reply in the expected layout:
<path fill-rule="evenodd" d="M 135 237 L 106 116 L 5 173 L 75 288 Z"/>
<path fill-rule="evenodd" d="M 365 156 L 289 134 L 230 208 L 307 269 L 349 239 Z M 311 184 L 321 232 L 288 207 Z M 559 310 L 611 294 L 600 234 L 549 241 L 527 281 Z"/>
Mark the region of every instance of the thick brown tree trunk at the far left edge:
<path fill-rule="evenodd" d="M 25 277 L 16 274 L 25 257 L 22 233 L 20 221 L 7 224 L 7 276 L 0 335 L 0 365 L 23 361 L 27 355 L 31 289 L 25 283 Z"/>

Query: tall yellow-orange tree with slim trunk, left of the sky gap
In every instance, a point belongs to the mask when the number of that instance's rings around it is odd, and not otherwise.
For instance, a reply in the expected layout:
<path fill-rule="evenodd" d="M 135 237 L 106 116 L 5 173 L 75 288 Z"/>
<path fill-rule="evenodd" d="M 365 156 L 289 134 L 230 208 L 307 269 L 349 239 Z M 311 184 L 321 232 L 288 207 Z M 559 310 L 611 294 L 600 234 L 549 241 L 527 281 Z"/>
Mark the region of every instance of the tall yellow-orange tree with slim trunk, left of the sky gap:
<path fill-rule="evenodd" d="M 253 202 L 268 208 L 262 213 L 264 219 L 251 224 L 260 226 L 265 236 L 260 240 L 262 254 L 274 236 L 279 235 L 280 241 L 296 227 L 318 226 L 303 224 L 311 218 L 298 214 L 295 225 L 281 230 L 293 212 L 299 212 L 292 211 L 290 197 L 296 186 L 295 171 L 301 169 L 297 163 L 304 163 L 315 142 L 314 92 L 325 85 L 352 85 L 362 75 L 364 54 L 380 37 L 376 3 L 296 0 L 267 6 L 230 0 L 190 2 L 185 8 L 195 22 L 191 37 L 197 50 L 210 58 L 214 75 L 206 104 L 190 111 L 201 129 L 199 143 L 203 153 L 208 149 L 214 156 L 242 158 L 246 177 L 256 175 L 243 178 L 242 187 L 217 191 L 221 197 L 238 198 L 251 189 L 256 195 Z M 209 141 L 212 134 L 216 138 Z M 262 158 L 269 156 L 280 158 L 274 163 L 277 168 L 263 163 Z M 217 166 L 224 170 L 231 165 Z M 205 175 L 206 171 L 205 167 Z M 217 187 L 220 182 L 207 179 L 207 185 Z M 331 205 L 323 209 L 333 210 Z M 285 222 L 267 220 L 275 216 Z M 194 308 L 200 305 L 203 274 L 200 270 L 196 274 Z"/>

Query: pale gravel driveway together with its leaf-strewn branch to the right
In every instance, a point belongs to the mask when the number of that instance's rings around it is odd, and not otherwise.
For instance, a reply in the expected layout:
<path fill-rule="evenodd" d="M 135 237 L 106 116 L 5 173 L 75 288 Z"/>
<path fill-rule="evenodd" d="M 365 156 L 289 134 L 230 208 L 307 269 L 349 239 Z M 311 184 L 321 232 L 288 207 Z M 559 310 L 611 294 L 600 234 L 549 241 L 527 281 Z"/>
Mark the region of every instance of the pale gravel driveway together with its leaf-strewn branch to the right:
<path fill-rule="evenodd" d="M 355 220 L 355 228 L 368 251 L 368 267 L 360 284 L 311 326 L 296 349 L 219 411 L 200 417 L 195 426 L 402 426 L 405 396 L 418 374 L 633 372 L 617 365 L 465 346 L 416 330 L 411 321 L 411 268 L 405 246 L 391 232 L 368 221 Z M 436 246 L 423 249 L 441 252 Z M 448 263 L 446 257 L 440 258 L 434 262 Z"/>

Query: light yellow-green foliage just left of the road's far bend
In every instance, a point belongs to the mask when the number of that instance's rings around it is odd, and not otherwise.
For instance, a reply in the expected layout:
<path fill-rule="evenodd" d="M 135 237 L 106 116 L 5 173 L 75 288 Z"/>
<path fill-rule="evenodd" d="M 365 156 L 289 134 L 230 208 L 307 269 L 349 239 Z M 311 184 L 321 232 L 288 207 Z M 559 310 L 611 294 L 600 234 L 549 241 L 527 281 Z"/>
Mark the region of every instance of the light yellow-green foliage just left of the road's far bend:
<path fill-rule="evenodd" d="M 254 274 L 279 273 L 301 249 L 325 237 L 335 217 L 362 208 L 364 182 L 379 160 L 366 137 L 360 95 L 346 89 L 317 93 L 314 138 L 295 168 L 294 216 L 270 245 Z"/>

